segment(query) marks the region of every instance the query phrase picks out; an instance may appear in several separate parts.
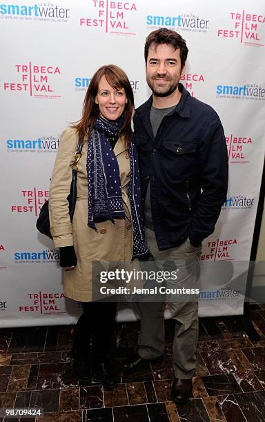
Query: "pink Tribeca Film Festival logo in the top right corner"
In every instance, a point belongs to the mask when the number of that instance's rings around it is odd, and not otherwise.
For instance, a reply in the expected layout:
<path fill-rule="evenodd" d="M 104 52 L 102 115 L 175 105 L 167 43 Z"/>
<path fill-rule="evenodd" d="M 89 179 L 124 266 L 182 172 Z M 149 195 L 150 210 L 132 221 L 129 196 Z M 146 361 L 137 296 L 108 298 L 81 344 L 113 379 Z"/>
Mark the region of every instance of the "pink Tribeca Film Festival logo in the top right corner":
<path fill-rule="evenodd" d="M 239 43 L 252 47 L 264 47 L 261 34 L 264 34 L 265 16 L 263 14 L 230 12 L 231 27 L 219 28 L 217 37 L 235 38 Z"/>

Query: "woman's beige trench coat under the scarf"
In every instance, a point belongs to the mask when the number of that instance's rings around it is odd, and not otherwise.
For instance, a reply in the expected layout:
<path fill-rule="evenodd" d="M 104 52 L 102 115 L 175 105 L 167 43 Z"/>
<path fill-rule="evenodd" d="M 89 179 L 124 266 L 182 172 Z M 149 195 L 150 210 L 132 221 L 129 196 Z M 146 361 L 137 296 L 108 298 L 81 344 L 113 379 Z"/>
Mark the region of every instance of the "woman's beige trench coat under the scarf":
<path fill-rule="evenodd" d="M 72 180 L 71 165 L 77 148 L 77 133 L 68 128 L 61 136 L 55 168 L 52 172 L 49 196 L 50 231 L 55 248 L 74 245 L 77 266 L 63 272 L 66 297 L 76 301 L 91 301 L 92 261 L 130 261 L 133 253 L 133 230 L 130 223 L 128 183 L 130 159 L 123 141 L 119 139 L 114 152 L 119 164 L 121 192 L 126 219 L 97 223 L 98 232 L 88 227 L 88 179 L 86 172 L 87 141 L 84 141 L 77 174 L 77 203 L 70 223 L 68 194 Z"/>

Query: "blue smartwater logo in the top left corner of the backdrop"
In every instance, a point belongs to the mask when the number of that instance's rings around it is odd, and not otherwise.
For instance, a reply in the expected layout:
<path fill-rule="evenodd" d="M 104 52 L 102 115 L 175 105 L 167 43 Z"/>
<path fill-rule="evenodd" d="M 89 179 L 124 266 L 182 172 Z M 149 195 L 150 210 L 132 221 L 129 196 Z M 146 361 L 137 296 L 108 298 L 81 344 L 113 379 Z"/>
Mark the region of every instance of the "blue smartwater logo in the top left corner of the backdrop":
<path fill-rule="evenodd" d="M 2 3 L 0 19 L 23 19 L 25 21 L 67 22 L 70 9 L 56 6 L 54 2 L 39 1 L 32 6 Z"/>

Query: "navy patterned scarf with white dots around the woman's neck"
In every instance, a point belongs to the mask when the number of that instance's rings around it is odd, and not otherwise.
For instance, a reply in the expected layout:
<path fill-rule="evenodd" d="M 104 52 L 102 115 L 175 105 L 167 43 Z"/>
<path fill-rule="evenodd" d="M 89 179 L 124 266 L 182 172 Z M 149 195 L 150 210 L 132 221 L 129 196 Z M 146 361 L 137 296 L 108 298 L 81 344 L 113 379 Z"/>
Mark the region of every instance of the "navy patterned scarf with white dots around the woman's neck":
<path fill-rule="evenodd" d="M 124 217 L 124 203 L 121 196 L 119 165 L 108 137 L 115 137 L 121 129 L 122 120 L 110 122 L 97 119 L 88 140 L 88 225 L 97 230 L 95 223 Z M 129 199 L 133 222 L 133 258 L 148 254 L 144 242 L 144 221 L 141 212 L 141 188 L 139 165 L 135 145 L 130 143 Z"/>

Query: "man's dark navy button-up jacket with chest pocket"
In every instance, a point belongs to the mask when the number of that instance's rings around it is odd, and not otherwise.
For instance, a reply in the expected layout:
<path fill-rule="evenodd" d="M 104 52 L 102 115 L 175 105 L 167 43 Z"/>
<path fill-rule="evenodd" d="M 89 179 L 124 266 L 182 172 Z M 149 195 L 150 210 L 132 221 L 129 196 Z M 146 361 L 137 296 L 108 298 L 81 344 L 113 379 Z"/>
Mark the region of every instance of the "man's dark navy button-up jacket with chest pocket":
<path fill-rule="evenodd" d="M 197 246 L 213 233 L 228 185 L 226 140 L 217 113 L 181 83 L 179 90 L 181 99 L 156 137 L 150 123 L 152 97 L 133 119 L 142 199 L 150 182 L 159 250 L 181 245 L 187 237 Z"/>

